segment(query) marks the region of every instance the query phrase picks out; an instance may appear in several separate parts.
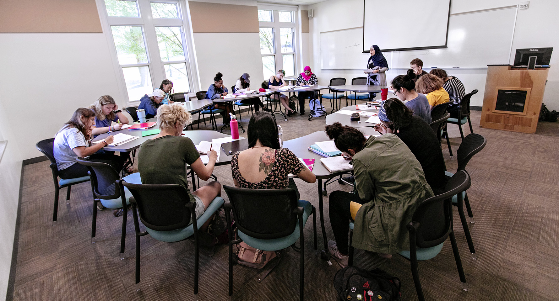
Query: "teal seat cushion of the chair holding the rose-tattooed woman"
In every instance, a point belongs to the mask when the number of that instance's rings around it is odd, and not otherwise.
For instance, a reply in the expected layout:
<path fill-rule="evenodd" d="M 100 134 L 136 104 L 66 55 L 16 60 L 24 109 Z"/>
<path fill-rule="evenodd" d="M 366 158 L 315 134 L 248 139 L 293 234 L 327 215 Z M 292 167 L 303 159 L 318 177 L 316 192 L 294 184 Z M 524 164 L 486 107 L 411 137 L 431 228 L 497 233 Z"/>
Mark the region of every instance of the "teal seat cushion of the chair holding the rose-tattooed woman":
<path fill-rule="evenodd" d="M 309 219 L 312 212 L 312 205 L 306 200 L 298 200 L 297 206 L 303 207 L 303 226 Z M 299 239 L 299 221 L 297 221 L 297 226 L 295 226 L 295 231 L 286 237 L 276 238 L 274 240 L 260 240 L 258 238 L 250 237 L 245 233 L 239 232 L 239 238 L 247 243 L 247 245 L 262 251 L 277 251 L 285 249 Z"/>

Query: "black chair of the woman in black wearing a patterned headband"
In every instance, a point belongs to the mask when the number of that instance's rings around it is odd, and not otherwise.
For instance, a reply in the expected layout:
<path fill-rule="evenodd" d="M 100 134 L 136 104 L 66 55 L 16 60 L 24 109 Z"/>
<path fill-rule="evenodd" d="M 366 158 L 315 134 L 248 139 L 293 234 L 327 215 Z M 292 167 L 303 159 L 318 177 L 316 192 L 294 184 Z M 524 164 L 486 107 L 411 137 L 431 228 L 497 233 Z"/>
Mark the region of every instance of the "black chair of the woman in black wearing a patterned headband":
<path fill-rule="evenodd" d="M 476 133 L 470 133 L 470 135 L 466 136 L 456 151 L 458 161 L 458 169 L 456 172 L 458 173 L 458 171 L 461 170 L 466 171 L 466 165 L 470 159 L 472 159 L 473 155 L 484 149 L 486 144 L 487 140 L 484 136 Z M 450 178 L 454 174 L 449 171 L 445 171 L 444 175 L 446 175 L 447 178 Z M 464 228 L 464 235 L 466 236 L 466 241 L 468 242 L 472 259 L 476 259 L 476 249 L 473 247 L 472 236 L 470 235 L 470 228 L 468 227 L 468 222 L 466 221 L 466 216 L 464 214 L 462 200 L 466 204 L 466 210 L 468 211 L 468 217 L 470 217 L 470 223 L 475 223 L 473 220 L 472 208 L 470 207 L 470 200 L 468 200 L 468 194 L 466 191 L 460 195 L 454 195 L 452 197 L 452 204 L 458 208 L 458 214 L 460 216 L 460 221 L 462 222 L 462 228 Z"/>

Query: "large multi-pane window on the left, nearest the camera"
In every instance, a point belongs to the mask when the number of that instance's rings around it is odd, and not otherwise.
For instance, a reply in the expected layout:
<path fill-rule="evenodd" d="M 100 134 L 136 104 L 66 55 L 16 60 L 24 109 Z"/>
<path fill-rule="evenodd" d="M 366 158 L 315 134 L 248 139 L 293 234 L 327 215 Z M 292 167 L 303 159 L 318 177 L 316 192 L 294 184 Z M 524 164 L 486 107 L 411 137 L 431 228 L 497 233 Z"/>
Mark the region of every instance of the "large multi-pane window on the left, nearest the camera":
<path fill-rule="evenodd" d="M 178 0 L 97 0 L 104 3 L 128 100 L 138 101 L 164 79 L 190 92 L 192 77 Z M 181 6 L 182 5 L 182 6 Z M 135 18 L 131 18 L 135 17 Z"/>

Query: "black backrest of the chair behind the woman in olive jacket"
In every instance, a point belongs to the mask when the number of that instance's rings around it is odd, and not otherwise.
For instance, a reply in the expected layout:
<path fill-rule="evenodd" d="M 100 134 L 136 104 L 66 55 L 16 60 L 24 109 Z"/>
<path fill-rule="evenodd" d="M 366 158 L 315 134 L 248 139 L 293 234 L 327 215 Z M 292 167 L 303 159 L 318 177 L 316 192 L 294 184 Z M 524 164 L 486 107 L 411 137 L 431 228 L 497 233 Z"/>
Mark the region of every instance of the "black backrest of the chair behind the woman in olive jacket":
<path fill-rule="evenodd" d="M 446 192 L 430 197 L 415 209 L 411 223 L 418 223 L 415 244 L 420 248 L 440 245 L 452 231 L 452 196 L 470 188 L 466 171 L 459 171 L 448 180 Z M 408 225 L 408 228 L 410 225 Z"/>

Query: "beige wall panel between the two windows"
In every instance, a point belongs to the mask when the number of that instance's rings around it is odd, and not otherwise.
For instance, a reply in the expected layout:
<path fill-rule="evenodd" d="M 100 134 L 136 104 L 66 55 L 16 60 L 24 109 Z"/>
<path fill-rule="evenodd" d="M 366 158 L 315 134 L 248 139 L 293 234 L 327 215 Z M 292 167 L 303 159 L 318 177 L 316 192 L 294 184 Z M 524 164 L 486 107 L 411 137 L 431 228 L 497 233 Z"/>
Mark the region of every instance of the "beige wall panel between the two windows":
<path fill-rule="evenodd" d="M 258 7 L 188 1 L 192 32 L 259 32 Z"/>

